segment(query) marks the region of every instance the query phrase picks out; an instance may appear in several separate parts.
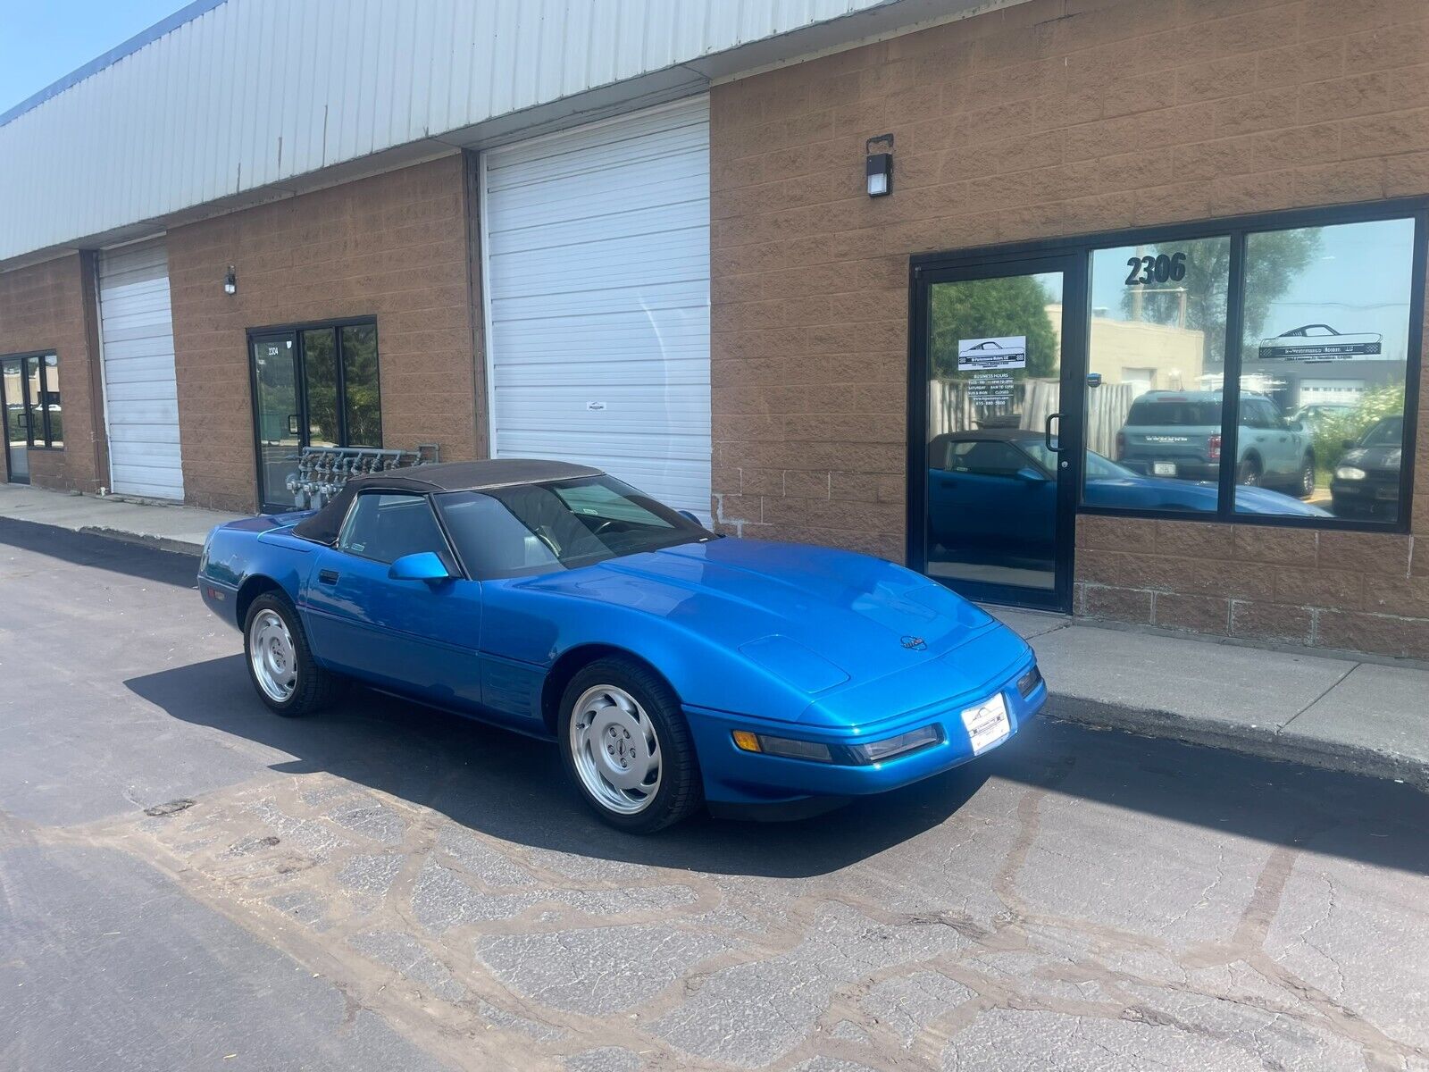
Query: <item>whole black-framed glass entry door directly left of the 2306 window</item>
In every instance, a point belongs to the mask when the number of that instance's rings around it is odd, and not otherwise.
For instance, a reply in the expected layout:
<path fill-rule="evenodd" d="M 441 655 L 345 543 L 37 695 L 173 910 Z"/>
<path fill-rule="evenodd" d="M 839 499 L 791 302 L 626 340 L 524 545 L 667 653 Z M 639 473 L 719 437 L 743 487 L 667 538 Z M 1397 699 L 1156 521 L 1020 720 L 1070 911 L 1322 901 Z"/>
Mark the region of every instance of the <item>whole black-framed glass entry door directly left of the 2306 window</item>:
<path fill-rule="evenodd" d="M 1085 304 L 1083 273 L 1039 257 L 916 279 L 909 562 L 970 599 L 1070 610 L 1079 362 L 1063 309 Z"/>

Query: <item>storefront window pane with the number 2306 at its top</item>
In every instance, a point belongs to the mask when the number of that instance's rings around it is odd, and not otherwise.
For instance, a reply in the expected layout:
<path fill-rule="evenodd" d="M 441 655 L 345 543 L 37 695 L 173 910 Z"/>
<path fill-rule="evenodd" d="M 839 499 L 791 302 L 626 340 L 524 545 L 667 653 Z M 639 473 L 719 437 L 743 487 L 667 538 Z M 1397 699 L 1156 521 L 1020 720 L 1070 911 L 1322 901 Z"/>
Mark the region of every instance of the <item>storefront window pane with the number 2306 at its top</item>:
<path fill-rule="evenodd" d="M 1089 506 L 1215 513 L 1230 239 L 1092 253 Z"/>

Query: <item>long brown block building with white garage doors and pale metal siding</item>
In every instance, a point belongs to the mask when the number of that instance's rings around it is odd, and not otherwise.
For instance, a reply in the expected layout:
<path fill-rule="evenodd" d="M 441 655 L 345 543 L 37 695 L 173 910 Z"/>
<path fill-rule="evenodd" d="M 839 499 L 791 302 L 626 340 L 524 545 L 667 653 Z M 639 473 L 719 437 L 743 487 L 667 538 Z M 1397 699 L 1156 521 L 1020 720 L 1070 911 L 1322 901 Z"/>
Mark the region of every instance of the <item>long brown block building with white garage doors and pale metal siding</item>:
<path fill-rule="evenodd" d="M 572 457 L 979 599 L 1429 657 L 1418 0 L 423 0 L 360 84 L 239 63 L 303 7 L 0 116 L 10 479 Z M 126 123 L 199 49 L 246 126 Z"/>

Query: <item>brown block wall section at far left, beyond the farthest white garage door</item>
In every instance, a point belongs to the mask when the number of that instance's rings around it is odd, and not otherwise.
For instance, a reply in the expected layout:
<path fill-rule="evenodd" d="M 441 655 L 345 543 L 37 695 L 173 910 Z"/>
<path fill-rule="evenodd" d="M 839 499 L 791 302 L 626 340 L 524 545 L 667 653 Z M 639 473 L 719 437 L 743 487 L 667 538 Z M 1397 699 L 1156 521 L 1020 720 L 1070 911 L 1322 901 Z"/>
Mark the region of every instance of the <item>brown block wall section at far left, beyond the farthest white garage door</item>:
<path fill-rule="evenodd" d="M 91 254 L 71 253 L 0 273 L 0 354 L 40 350 L 53 350 L 59 359 L 64 447 L 29 452 L 30 483 L 96 492 L 109 483 L 109 462 Z M 0 450 L 0 466 L 3 459 Z"/>

